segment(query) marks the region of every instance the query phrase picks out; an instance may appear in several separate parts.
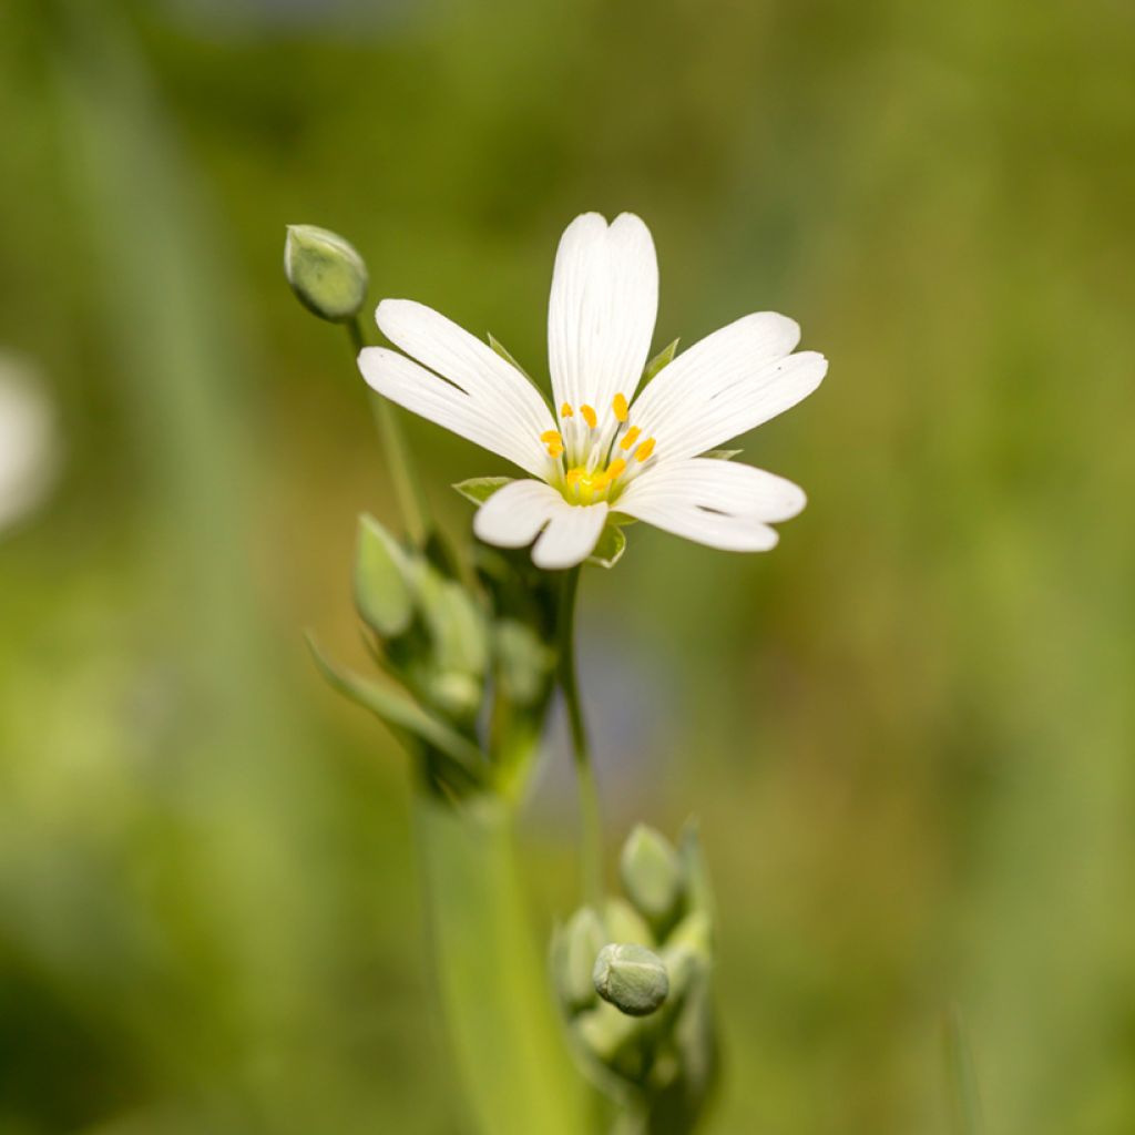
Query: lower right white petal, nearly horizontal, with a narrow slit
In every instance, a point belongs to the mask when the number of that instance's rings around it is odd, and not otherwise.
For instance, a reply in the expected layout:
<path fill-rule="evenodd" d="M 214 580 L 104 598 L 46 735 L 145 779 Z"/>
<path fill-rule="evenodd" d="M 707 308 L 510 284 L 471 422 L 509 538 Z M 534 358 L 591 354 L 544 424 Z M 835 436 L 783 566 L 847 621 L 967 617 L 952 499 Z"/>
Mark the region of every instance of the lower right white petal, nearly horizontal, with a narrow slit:
<path fill-rule="evenodd" d="M 662 462 L 642 473 L 615 507 L 675 536 L 730 552 L 767 552 L 768 528 L 805 506 L 804 490 L 783 477 L 729 461 Z"/>

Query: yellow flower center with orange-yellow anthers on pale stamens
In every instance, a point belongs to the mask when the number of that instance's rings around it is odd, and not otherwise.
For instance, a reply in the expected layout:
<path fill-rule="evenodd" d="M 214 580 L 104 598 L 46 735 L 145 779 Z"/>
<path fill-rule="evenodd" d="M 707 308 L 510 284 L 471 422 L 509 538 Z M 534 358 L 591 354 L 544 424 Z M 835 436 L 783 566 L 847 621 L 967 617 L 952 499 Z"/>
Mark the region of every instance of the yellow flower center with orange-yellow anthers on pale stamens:
<path fill-rule="evenodd" d="M 561 430 L 540 435 L 548 456 L 563 470 L 563 479 L 552 484 L 569 504 L 613 501 L 654 454 L 654 438 L 639 440 L 642 430 L 628 424 L 630 407 L 622 394 L 611 403 L 611 413 L 600 415 L 594 406 L 571 403 L 560 407 Z M 564 468 L 566 466 L 566 468 Z"/>

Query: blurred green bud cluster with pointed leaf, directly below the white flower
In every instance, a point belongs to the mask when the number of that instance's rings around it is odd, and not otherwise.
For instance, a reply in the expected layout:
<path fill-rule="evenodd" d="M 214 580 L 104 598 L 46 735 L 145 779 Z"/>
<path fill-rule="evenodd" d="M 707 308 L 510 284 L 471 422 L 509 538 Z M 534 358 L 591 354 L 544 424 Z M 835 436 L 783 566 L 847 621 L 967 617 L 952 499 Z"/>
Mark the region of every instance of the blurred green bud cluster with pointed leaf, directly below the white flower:
<path fill-rule="evenodd" d="M 556 595 L 527 556 L 477 545 L 474 579 L 444 541 L 400 540 L 359 522 L 355 606 L 378 669 L 403 691 L 344 671 L 316 649 L 327 678 L 381 717 L 446 798 L 524 781 L 552 698 L 548 645 Z"/>

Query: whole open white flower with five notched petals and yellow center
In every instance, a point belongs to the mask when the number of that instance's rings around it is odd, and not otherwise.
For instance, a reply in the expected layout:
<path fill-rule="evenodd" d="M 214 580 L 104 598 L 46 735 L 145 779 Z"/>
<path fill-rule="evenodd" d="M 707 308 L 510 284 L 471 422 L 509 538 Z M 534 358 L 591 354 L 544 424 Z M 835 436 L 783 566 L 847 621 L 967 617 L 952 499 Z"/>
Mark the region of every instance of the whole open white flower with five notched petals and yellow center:
<path fill-rule="evenodd" d="M 571 568 L 611 512 L 733 552 L 776 544 L 801 489 L 749 465 L 699 456 L 810 394 L 827 361 L 792 354 L 800 328 L 758 312 L 678 355 L 634 397 L 658 309 L 650 232 L 622 213 L 585 213 L 560 241 L 548 305 L 555 409 L 490 346 L 436 311 L 384 300 L 376 319 L 405 354 L 368 347 L 359 368 L 379 394 L 531 473 L 480 506 L 477 535 L 536 540 L 539 568 Z M 410 355 L 411 358 L 406 358 Z M 417 360 L 413 361 L 413 360 Z"/>

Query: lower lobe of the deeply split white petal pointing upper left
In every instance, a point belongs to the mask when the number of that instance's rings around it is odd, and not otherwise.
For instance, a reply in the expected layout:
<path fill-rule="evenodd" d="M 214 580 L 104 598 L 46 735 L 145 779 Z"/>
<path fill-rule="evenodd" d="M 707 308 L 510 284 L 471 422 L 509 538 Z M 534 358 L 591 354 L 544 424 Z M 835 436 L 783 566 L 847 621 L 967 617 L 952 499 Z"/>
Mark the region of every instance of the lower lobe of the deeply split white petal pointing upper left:
<path fill-rule="evenodd" d="M 384 397 L 496 453 L 535 477 L 548 477 L 552 461 L 539 432 L 516 426 L 491 398 L 474 397 L 386 347 L 364 347 L 359 370 Z M 545 411 L 547 412 L 547 411 Z M 550 418 L 545 429 L 550 429 Z"/>

